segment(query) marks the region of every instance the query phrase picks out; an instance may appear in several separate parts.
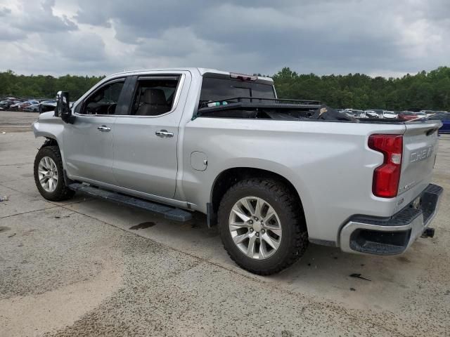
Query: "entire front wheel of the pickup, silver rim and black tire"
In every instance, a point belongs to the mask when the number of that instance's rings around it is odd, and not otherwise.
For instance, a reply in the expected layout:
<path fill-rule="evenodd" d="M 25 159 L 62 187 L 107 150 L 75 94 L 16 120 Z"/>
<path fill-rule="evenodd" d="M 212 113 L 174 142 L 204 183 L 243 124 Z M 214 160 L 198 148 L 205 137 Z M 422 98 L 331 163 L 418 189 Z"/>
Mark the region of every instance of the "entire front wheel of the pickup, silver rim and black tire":
<path fill-rule="evenodd" d="M 34 182 L 41 196 L 50 201 L 73 197 L 74 191 L 65 185 L 63 161 L 58 146 L 41 147 L 34 159 Z"/>

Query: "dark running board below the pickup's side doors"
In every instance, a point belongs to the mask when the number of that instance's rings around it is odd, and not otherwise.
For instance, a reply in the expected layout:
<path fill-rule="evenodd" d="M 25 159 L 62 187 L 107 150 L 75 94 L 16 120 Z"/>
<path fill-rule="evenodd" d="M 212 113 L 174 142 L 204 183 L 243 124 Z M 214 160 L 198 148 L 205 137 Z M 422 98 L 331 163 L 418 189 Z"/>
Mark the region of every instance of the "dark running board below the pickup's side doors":
<path fill-rule="evenodd" d="M 68 186 L 70 190 L 83 192 L 91 195 L 92 197 L 100 197 L 106 200 L 119 202 L 120 204 L 125 204 L 129 206 L 139 207 L 139 209 L 146 209 L 147 211 L 152 211 L 154 213 L 159 213 L 164 215 L 168 220 L 175 220 L 185 222 L 191 220 L 192 214 L 188 211 L 182 209 L 176 209 L 171 206 L 165 206 L 162 204 L 156 204 L 151 201 L 146 201 L 143 199 L 138 199 L 134 197 L 129 197 L 124 194 L 119 194 L 116 192 L 110 192 L 107 190 L 101 190 L 90 185 L 84 185 L 79 183 L 73 183 Z"/>

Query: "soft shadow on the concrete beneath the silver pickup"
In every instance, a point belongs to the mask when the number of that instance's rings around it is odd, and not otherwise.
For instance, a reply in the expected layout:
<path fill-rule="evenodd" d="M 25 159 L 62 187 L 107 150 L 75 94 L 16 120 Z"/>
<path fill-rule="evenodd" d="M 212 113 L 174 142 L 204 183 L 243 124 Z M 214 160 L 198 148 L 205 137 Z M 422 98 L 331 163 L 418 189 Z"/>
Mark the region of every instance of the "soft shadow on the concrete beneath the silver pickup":
<path fill-rule="evenodd" d="M 196 256 L 205 263 L 223 266 L 255 282 L 312 298 L 346 303 L 349 308 L 399 309 L 401 301 L 396 298 L 405 298 L 419 289 L 423 278 L 428 277 L 430 260 L 443 249 L 436 244 L 436 239 L 418 239 L 401 256 L 363 256 L 309 244 L 304 256 L 293 266 L 277 275 L 259 277 L 240 269 L 229 258 L 217 227 L 208 228 L 206 216 L 201 213 L 194 213 L 193 219 L 186 223 L 178 223 L 148 211 L 99 199 L 68 207 Z"/>

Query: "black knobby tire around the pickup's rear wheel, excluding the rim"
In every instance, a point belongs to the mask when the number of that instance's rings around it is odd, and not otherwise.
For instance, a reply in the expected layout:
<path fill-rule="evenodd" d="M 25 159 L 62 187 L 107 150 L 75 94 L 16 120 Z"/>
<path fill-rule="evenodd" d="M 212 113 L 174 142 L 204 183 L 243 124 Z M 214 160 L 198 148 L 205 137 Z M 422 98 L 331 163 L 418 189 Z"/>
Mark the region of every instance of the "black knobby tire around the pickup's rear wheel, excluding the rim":
<path fill-rule="evenodd" d="M 274 255 L 257 260 L 245 255 L 234 244 L 229 231 L 233 205 L 243 197 L 259 197 L 269 202 L 280 219 L 283 237 Z M 257 275 L 272 275 L 293 265 L 306 251 L 308 234 L 300 200 L 281 181 L 250 178 L 233 185 L 221 199 L 218 225 L 222 243 L 233 261 Z"/>

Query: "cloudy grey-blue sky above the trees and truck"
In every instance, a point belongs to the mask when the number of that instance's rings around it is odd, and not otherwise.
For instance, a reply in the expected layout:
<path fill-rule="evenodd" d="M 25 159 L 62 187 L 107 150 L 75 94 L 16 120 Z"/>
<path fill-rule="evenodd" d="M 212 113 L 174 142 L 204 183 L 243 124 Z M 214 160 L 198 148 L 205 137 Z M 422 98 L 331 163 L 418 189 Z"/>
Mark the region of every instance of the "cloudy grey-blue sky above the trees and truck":
<path fill-rule="evenodd" d="M 450 63 L 449 0 L 0 0 L 0 71 L 400 77 Z"/>

